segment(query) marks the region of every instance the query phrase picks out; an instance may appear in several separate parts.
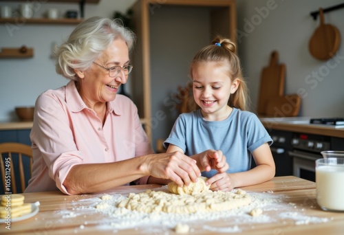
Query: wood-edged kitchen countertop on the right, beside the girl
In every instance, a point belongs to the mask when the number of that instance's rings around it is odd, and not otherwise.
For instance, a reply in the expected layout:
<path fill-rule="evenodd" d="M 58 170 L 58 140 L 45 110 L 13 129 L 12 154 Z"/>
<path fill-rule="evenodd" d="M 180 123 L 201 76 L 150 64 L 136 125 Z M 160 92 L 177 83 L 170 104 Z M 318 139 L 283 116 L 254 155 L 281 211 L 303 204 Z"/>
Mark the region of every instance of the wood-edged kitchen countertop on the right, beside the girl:
<path fill-rule="evenodd" d="M 344 126 L 310 124 L 310 117 L 260 117 L 259 120 L 268 129 L 344 138 Z"/>

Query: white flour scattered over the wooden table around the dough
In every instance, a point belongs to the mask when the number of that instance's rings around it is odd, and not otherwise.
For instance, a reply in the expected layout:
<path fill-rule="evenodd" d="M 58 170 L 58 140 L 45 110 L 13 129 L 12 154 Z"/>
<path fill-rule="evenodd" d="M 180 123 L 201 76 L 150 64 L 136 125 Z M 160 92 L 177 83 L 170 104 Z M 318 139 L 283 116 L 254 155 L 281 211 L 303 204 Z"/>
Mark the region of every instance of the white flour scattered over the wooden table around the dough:
<path fill-rule="evenodd" d="M 165 192 L 171 195 L 167 186 L 161 186 L 152 189 L 154 192 Z M 55 223 L 68 223 L 70 217 L 80 219 L 80 225 L 84 225 L 84 232 L 92 234 L 87 224 L 96 225 L 96 229 L 107 232 L 120 232 L 121 230 L 135 229 L 140 230 L 142 234 L 177 234 L 175 229 L 178 224 L 188 225 L 189 234 L 202 234 L 204 231 L 213 234 L 233 234 L 253 232 L 259 224 L 268 223 L 276 226 L 293 225 L 311 225 L 316 223 L 327 223 L 331 218 L 311 216 L 312 212 L 304 210 L 314 208 L 314 203 L 291 203 L 290 197 L 281 195 L 279 192 L 245 192 L 244 190 L 232 190 L 235 195 L 248 194 L 251 202 L 230 210 L 219 211 L 198 211 L 191 214 L 178 214 L 171 212 L 142 212 L 131 210 L 125 207 L 118 208 L 118 204 L 129 199 L 129 192 L 138 195 L 146 190 L 133 188 L 130 191 L 116 191 L 109 194 L 98 195 L 80 195 L 78 200 L 72 201 L 72 208 L 56 212 L 54 217 Z M 175 197 L 194 197 L 194 195 L 173 194 Z M 139 197 L 139 196 L 136 196 Z M 109 197 L 110 198 L 110 197 Z M 163 201 L 160 199 L 160 201 Z M 128 201 L 127 201 L 128 202 Z M 103 204 L 107 203 L 108 207 Z M 102 205 L 99 205 L 102 204 Z M 97 206 L 99 205 L 99 206 Z M 158 206 L 158 204 L 155 204 Z M 252 216 L 250 212 L 255 208 L 261 208 L 263 214 Z M 319 209 L 320 210 L 320 209 Z M 37 219 L 37 218 L 36 218 Z M 38 219 L 45 219 L 40 216 Z M 223 223 L 218 223 L 221 220 Z M 215 222 L 215 223 L 214 223 Z M 250 226 L 247 226 L 250 225 Z M 179 225 L 180 226 L 180 225 Z M 178 227 L 179 227 L 178 226 Z M 81 227 L 77 227 L 80 231 Z M 188 233 L 186 233 L 188 234 Z"/>

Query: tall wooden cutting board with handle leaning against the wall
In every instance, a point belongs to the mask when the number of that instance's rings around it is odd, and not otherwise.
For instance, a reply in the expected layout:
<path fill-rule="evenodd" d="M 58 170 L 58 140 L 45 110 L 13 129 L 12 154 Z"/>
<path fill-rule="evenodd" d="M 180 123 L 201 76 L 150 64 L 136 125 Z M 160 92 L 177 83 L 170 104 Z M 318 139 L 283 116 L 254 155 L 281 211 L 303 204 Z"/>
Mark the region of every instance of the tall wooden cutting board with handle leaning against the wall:
<path fill-rule="evenodd" d="M 286 65 L 279 64 L 279 54 L 273 51 L 270 64 L 261 71 L 257 113 L 266 115 L 266 104 L 270 98 L 283 96 Z"/>

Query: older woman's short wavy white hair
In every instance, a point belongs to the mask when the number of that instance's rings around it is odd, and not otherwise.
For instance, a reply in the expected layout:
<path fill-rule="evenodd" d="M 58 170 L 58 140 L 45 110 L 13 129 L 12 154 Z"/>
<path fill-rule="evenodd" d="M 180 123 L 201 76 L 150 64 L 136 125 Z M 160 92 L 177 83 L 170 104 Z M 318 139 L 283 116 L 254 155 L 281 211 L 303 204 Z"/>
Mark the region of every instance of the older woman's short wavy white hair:
<path fill-rule="evenodd" d="M 55 47 L 56 72 L 70 80 L 78 80 L 74 69 L 87 70 L 92 62 L 117 38 L 133 47 L 135 34 L 115 19 L 91 17 L 80 23 L 60 47 Z"/>

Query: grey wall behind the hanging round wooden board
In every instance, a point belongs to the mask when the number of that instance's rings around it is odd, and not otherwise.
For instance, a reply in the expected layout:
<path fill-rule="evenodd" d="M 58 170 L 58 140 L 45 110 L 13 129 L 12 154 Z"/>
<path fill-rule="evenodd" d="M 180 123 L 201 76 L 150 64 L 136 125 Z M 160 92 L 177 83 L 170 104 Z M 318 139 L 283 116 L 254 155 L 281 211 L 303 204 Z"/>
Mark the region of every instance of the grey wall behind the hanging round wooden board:
<path fill-rule="evenodd" d="M 272 10 L 259 14 L 256 8 L 266 9 L 268 3 L 272 3 Z M 335 59 L 316 60 L 308 50 L 308 42 L 319 26 L 319 17 L 314 21 L 310 12 L 339 3 L 343 1 L 237 1 L 237 29 L 247 32 L 239 32 L 239 56 L 254 105 L 257 105 L 261 69 L 268 66 L 270 54 L 276 49 L 279 62 L 286 64 L 286 93 L 303 91 L 299 115 L 344 116 L 344 8 L 324 14 L 325 23 L 336 26 L 342 34 Z M 255 25 L 250 28 L 247 21 Z"/>

